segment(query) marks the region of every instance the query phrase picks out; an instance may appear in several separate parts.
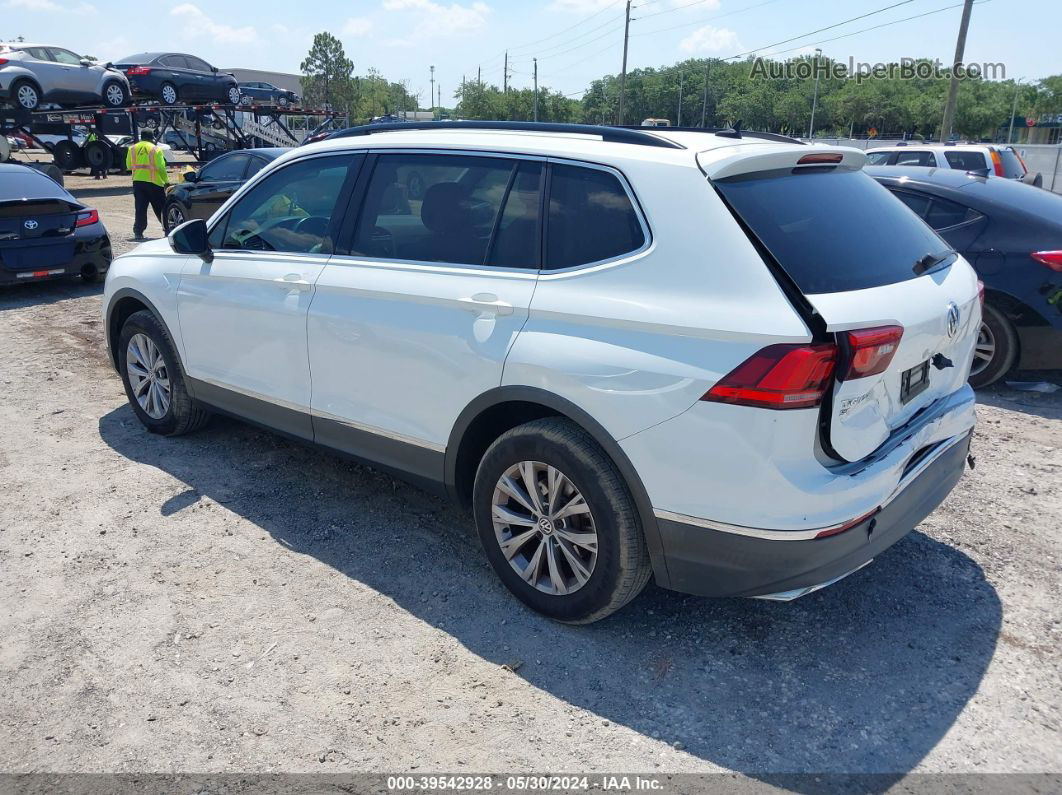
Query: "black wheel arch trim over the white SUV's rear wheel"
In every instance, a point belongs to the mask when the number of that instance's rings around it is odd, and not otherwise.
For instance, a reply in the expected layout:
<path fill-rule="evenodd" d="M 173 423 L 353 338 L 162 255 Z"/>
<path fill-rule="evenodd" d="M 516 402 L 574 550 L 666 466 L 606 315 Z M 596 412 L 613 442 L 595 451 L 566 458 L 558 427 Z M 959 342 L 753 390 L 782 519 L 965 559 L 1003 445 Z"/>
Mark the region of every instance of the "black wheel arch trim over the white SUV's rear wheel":
<path fill-rule="evenodd" d="M 446 490 L 460 505 L 468 507 L 476 468 L 486 448 L 516 426 L 543 417 L 564 417 L 586 431 L 616 465 L 634 498 L 656 583 L 668 587 L 670 577 L 652 503 L 641 478 L 619 443 L 600 422 L 570 400 L 535 386 L 499 386 L 480 395 L 461 412 L 446 445 L 443 477 Z"/>

